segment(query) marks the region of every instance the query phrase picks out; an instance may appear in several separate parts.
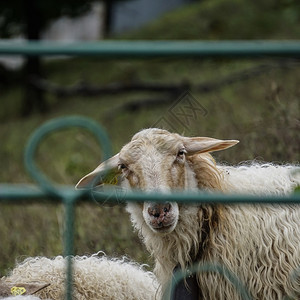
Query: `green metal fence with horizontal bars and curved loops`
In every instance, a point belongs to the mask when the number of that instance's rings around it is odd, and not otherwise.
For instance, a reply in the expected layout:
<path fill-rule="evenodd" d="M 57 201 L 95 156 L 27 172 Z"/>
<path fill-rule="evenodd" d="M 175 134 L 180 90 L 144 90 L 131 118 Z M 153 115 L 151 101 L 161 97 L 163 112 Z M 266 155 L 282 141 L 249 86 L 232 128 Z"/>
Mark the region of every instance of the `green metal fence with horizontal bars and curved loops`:
<path fill-rule="evenodd" d="M 150 58 L 150 57 L 300 57 L 300 41 L 109 41 L 97 43 L 50 43 L 50 42 L 9 42 L 0 41 L 0 55 L 71 55 L 112 58 Z M 64 255 L 68 259 L 66 298 L 72 299 L 72 261 L 74 238 L 74 208 L 79 201 L 97 201 L 99 203 L 120 201 L 120 194 L 106 190 L 101 193 L 90 191 L 76 191 L 70 186 L 56 186 L 50 183 L 47 177 L 39 170 L 35 163 L 35 154 L 39 143 L 49 134 L 70 127 L 81 127 L 92 132 L 101 145 L 104 159 L 111 156 L 111 146 L 105 131 L 94 121 L 83 117 L 66 117 L 49 121 L 38 128 L 30 137 L 25 149 L 25 166 L 37 182 L 37 185 L 27 184 L 0 184 L 0 202 L 32 203 L 40 199 L 57 201 L 65 206 L 65 234 Z M 232 196 L 220 194 L 188 194 L 175 193 L 172 195 L 147 194 L 147 201 L 176 201 L 198 203 L 300 203 L 300 194 L 277 197 Z M 122 195 L 122 201 L 143 202 L 144 194 L 138 192 L 126 192 Z M 192 271 L 215 271 L 223 274 L 239 290 L 243 299 L 251 299 L 245 287 L 239 279 L 228 270 L 218 265 L 202 266 L 201 269 L 193 267 Z M 185 276 L 179 272 L 175 274 L 172 287 Z M 165 296 L 168 298 L 168 296 Z"/>

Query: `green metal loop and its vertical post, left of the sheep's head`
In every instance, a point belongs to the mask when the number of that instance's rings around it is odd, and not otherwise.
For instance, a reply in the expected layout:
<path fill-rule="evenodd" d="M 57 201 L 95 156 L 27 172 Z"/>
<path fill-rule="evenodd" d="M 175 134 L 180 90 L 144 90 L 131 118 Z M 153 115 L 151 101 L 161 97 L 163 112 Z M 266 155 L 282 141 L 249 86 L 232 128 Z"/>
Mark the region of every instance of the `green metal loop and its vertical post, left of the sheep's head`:
<path fill-rule="evenodd" d="M 41 189 L 46 192 L 48 197 L 59 197 L 62 199 L 65 206 L 64 255 L 67 257 L 66 299 L 68 300 L 72 299 L 73 289 L 71 255 L 74 253 L 74 206 L 76 200 L 83 192 L 56 188 L 55 185 L 53 185 L 44 173 L 37 167 L 34 158 L 37 148 L 44 138 L 58 130 L 71 127 L 81 127 L 90 131 L 96 137 L 103 149 L 104 160 L 111 156 L 110 140 L 106 135 L 106 132 L 93 120 L 79 116 L 57 118 L 43 124 L 29 138 L 24 155 L 25 167 L 31 177 L 40 185 Z"/>

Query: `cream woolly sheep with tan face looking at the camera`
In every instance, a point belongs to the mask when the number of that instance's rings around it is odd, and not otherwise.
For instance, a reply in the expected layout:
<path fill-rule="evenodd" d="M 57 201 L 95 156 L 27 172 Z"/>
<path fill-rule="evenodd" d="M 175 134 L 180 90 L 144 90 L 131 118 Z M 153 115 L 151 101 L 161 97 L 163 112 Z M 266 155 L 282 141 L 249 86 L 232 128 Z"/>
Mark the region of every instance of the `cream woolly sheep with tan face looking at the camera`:
<path fill-rule="evenodd" d="M 76 188 L 121 176 L 125 189 L 286 195 L 299 185 L 297 166 L 218 165 L 210 152 L 237 140 L 183 137 L 149 128 L 135 134 L 114 157 L 84 176 Z M 299 169 L 298 169 L 299 170 Z M 106 176 L 106 175 L 103 175 Z M 155 259 L 165 291 L 173 270 L 197 263 L 221 264 L 236 274 L 253 299 L 300 299 L 300 209 L 297 205 L 127 203 L 134 228 Z M 199 299 L 241 299 L 217 272 L 197 273 Z"/>

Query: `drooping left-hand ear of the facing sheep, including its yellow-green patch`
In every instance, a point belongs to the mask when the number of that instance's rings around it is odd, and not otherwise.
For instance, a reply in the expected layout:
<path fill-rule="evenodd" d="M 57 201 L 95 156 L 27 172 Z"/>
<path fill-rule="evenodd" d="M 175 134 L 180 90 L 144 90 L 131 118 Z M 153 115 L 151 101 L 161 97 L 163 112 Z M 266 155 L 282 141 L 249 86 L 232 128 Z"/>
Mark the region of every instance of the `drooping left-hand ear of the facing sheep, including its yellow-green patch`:
<path fill-rule="evenodd" d="M 119 153 L 101 163 L 94 171 L 85 175 L 76 184 L 76 189 L 93 188 L 101 184 L 117 184 Z M 101 174 L 103 176 L 101 176 Z"/>

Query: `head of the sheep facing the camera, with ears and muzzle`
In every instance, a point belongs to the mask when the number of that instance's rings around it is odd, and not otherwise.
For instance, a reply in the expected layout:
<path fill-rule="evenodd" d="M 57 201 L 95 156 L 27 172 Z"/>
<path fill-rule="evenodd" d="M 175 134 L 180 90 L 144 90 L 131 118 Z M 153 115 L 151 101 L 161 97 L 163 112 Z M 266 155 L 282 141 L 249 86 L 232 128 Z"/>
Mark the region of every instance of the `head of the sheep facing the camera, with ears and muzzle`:
<path fill-rule="evenodd" d="M 189 157 L 229 148 L 236 140 L 207 137 L 188 138 L 166 130 L 150 128 L 133 136 L 114 157 L 100 164 L 83 177 L 76 188 L 102 184 L 100 174 L 112 171 L 121 175 L 121 185 L 146 193 L 169 193 L 174 190 L 197 188 Z M 99 178 L 99 181 L 98 181 Z M 171 232 L 178 222 L 177 203 L 151 203 L 142 206 L 147 225 L 155 232 Z"/>

